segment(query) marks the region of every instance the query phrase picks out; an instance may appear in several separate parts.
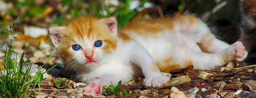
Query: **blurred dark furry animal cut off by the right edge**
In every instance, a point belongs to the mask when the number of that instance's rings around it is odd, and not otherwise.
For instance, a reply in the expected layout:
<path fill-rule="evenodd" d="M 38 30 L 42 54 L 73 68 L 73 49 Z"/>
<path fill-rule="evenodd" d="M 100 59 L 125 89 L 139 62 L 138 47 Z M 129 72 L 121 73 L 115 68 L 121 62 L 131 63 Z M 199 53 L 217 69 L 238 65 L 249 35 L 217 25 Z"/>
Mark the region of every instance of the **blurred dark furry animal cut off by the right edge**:
<path fill-rule="evenodd" d="M 241 13 L 241 36 L 247 51 L 251 51 L 256 32 L 256 0 L 239 0 Z"/>

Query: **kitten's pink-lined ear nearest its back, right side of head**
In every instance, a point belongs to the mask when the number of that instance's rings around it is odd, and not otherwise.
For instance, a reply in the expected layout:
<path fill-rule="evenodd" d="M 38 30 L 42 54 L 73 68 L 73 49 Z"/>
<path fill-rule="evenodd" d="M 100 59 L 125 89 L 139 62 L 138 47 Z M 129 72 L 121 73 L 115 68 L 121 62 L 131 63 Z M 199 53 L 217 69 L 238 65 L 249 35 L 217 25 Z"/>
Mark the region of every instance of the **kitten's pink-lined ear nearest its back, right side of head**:
<path fill-rule="evenodd" d="M 101 20 L 109 29 L 112 35 L 117 34 L 117 21 L 116 17 L 109 17 Z"/>

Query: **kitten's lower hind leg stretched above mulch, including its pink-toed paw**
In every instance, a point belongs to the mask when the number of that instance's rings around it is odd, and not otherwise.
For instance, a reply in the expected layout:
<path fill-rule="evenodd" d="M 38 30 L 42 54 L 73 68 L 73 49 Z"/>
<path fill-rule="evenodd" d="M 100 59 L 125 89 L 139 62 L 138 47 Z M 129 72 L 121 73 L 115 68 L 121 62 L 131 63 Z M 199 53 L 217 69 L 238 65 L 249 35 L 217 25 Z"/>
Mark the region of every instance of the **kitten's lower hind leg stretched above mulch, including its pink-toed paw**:
<path fill-rule="evenodd" d="M 190 57 L 196 68 L 201 70 L 210 70 L 214 67 L 221 66 L 232 61 L 242 61 L 245 59 L 246 55 L 245 47 L 242 43 L 236 42 L 228 48 L 214 54 L 193 52 Z"/>

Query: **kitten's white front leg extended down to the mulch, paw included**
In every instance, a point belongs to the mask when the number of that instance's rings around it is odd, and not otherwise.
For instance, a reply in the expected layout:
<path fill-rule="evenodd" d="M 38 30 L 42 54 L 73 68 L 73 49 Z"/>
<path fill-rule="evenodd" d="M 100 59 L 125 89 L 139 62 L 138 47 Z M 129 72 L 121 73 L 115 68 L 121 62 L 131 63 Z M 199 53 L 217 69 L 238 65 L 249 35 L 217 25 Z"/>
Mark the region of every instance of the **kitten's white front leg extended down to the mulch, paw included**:
<path fill-rule="evenodd" d="M 141 67 L 145 76 L 144 85 L 159 87 L 165 85 L 170 80 L 169 77 L 162 75 L 154 59 L 148 53 L 148 51 L 140 44 L 134 44 L 135 52 L 131 56 L 133 63 Z M 133 51 L 134 51 L 133 50 Z"/>

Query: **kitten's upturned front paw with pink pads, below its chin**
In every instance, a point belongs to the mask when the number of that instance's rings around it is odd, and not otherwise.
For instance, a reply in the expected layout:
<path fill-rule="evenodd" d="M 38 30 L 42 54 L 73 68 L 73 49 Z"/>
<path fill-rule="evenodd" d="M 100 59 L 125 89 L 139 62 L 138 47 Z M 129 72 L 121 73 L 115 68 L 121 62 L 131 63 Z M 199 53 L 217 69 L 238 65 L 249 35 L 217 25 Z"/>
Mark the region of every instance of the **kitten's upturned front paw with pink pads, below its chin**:
<path fill-rule="evenodd" d="M 97 77 L 93 81 L 88 82 L 87 86 L 83 88 L 83 93 L 86 93 L 86 94 L 101 93 L 101 79 Z"/>

